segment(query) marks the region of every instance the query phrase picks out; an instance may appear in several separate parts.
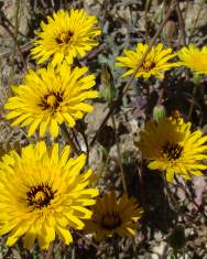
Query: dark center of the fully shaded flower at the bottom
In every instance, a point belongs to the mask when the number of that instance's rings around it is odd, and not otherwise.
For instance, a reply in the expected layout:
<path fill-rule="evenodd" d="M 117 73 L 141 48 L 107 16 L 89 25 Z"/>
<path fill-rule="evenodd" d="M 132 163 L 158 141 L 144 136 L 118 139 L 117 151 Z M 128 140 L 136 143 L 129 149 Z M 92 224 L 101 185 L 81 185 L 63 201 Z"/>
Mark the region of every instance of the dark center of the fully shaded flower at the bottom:
<path fill-rule="evenodd" d="M 121 218 L 118 212 L 107 212 L 102 215 L 101 227 L 108 230 L 113 230 L 121 225 Z"/>

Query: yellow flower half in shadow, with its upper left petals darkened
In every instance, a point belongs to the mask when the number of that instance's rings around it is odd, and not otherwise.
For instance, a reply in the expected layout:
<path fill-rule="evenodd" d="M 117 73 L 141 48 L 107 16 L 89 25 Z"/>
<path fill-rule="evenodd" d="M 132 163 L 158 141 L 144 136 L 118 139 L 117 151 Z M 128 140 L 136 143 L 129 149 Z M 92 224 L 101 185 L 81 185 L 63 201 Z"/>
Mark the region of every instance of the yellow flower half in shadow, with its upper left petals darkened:
<path fill-rule="evenodd" d="M 207 165 L 207 136 L 200 130 L 190 132 L 190 123 L 174 119 L 162 119 L 159 122 L 146 122 L 138 147 L 143 157 L 152 160 L 149 169 L 160 170 L 166 174 L 166 180 L 173 182 L 175 174 L 190 180 L 193 175 L 203 175 Z"/>

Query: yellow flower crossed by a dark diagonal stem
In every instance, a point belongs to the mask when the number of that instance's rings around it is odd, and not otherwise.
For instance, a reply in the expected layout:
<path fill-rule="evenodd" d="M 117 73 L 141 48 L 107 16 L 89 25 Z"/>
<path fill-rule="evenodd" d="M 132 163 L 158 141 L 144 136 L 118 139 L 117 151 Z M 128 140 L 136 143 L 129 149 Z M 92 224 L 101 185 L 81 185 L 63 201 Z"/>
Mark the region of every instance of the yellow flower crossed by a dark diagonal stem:
<path fill-rule="evenodd" d="M 134 73 L 146 50 L 148 44 L 138 43 L 135 51 L 124 50 L 126 56 L 117 57 L 117 66 L 124 66 L 129 68 L 129 71 L 123 74 L 123 77 Z M 164 50 L 163 44 L 157 44 L 155 47 L 152 47 L 143 62 L 143 65 L 135 74 L 135 77 L 143 76 L 144 78 L 149 78 L 150 76 L 155 76 L 163 79 L 164 72 L 176 66 L 176 63 L 168 63 L 168 61 L 175 55 L 176 54 L 172 54 L 172 48 Z"/>

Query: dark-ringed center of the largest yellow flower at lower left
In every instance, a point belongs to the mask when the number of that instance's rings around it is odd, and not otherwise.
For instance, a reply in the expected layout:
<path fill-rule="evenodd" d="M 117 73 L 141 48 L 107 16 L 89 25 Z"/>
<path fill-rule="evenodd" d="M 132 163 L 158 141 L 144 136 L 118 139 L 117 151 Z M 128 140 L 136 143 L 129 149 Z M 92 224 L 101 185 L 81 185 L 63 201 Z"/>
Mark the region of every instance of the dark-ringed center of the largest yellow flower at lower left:
<path fill-rule="evenodd" d="M 37 186 L 31 186 L 26 193 L 29 206 L 36 208 L 47 207 L 51 201 L 54 198 L 56 191 L 53 191 L 47 184 L 40 184 Z"/>

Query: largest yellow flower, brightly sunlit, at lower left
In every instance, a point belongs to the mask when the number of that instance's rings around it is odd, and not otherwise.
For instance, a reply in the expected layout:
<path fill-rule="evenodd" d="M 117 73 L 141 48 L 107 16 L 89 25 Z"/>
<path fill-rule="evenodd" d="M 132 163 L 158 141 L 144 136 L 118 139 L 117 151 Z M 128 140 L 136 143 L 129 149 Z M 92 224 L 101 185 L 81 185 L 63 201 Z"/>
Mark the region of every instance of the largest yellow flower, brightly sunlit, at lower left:
<path fill-rule="evenodd" d="M 90 218 L 86 208 L 95 203 L 98 190 L 87 188 L 91 170 L 79 173 L 84 154 L 68 158 L 69 147 L 58 152 L 58 144 L 47 151 L 45 142 L 30 144 L 6 154 L 0 162 L 0 235 L 9 234 L 7 245 L 23 237 L 25 248 L 35 239 L 41 249 L 59 237 L 73 241 L 69 227 L 81 229 Z"/>

